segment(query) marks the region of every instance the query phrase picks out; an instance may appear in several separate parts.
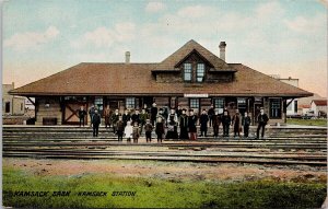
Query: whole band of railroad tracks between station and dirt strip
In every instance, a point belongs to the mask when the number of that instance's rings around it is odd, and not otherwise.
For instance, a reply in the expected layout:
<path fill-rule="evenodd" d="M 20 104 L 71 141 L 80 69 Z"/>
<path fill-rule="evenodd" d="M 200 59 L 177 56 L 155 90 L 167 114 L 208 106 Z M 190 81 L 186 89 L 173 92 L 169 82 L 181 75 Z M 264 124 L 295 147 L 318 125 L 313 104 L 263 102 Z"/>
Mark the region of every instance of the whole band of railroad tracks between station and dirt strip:
<path fill-rule="evenodd" d="M 89 128 L 3 129 L 4 158 L 73 160 L 151 160 L 197 163 L 251 163 L 327 166 L 327 130 L 271 130 L 268 138 L 199 138 L 198 141 L 165 140 L 159 144 L 117 142 L 102 129 L 99 138 Z"/>

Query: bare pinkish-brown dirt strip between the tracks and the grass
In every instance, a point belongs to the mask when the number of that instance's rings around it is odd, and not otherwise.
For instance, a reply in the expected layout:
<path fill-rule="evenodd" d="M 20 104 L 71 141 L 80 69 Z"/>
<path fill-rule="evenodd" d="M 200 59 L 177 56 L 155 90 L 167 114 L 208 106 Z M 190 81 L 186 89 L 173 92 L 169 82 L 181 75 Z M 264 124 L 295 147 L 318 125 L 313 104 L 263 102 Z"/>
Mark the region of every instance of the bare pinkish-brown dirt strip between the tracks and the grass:
<path fill-rule="evenodd" d="M 261 178 L 292 182 L 327 181 L 327 167 L 255 165 L 232 163 L 188 163 L 124 160 L 2 160 L 3 167 L 19 169 L 40 176 L 112 174 L 175 181 L 242 182 Z"/>

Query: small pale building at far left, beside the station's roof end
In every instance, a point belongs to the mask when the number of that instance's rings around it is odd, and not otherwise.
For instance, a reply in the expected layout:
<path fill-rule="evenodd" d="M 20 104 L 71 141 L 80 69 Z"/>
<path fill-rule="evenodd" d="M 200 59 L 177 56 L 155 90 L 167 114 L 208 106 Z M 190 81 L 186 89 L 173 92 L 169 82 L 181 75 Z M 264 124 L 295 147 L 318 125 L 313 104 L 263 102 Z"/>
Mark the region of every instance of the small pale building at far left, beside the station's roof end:
<path fill-rule="evenodd" d="M 13 96 L 8 92 L 14 89 L 14 83 L 2 84 L 2 115 L 24 115 L 25 97 Z"/>

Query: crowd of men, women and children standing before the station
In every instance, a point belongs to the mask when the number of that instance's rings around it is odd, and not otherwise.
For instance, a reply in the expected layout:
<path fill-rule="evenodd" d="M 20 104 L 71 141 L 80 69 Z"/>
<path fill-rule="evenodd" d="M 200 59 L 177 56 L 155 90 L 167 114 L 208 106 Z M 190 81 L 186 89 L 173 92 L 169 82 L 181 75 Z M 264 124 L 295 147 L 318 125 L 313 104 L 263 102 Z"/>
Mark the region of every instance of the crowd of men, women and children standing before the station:
<path fill-rule="evenodd" d="M 84 118 L 87 115 L 86 111 L 81 106 L 78 111 L 80 118 L 80 127 L 84 126 Z M 91 118 L 91 126 L 93 127 L 93 137 L 98 136 L 98 127 L 102 121 L 102 116 L 98 109 L 92 105 L 89 109 Z M 230 115 L 227 108 L 224 108 L 222 114 L 215 112 L 213 106 L 208 111 L 202 109 L 201 114 L 197 116 L 194 109 L 180 108 L 171 109 L 169 113 L 166 109 L 157 108 L 156 104 L 153 103 L 150 109 L 142 108 L 141 113 L 139 109 L 134 109 L 132 114 L 126 109 L 124 114 L 120 114 L 118 109 L 113 112 L 109 105 L 104 109 L 105 127 L 113 127 L 113 131 L 117 135 L 118 141 L 122 141 L 124 138 L 128 142 L 131 139 L 134 143 L 138 143 L 138 139 L 144 131 L 147 142 L 152 141 L 152 132 L 155 131 L 157 136 L 157 142 L 162 143 L 163 138 L 165 139 L 180 139 L 180 140 L 197 140 L 197 137 L 209 137 L 208 128 L 213 128 L 214 138 L 219 137 L 219 128 L 222 125 L 223 135 L 222 137 L 229 137 L 230 127 L 233 127 L 233 136 L 241 137 L 241 132 L 244 132 L 244 138 L 249 136 L 249 126 L 251 118 L 248 113 L 244 113 L 242 116 L 238 109 L 235 111 L 233 116 Z M 259 138 L 261 129 L 261 137 L 265 137 L 265 127 L 269 118 L 265 114 L 263 108 L 260 108 L 260 114 L 257 116 L 258 127 L 256 138 Z M 197 135 L 197 126 L 200 127 L 200 135 Z M 178 131 L 179 128 L 179 131 Z"/>

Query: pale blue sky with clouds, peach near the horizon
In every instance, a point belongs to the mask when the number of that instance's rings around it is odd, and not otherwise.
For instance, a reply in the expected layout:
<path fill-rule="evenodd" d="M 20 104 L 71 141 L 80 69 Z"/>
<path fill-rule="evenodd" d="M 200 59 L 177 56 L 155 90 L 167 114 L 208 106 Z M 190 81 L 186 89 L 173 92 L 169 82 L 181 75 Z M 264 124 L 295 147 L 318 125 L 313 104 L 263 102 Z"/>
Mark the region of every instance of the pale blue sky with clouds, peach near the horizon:
<path fill-rule="evenodd" d="M 160 62 L 190 39 L 225 60 L 300 79 L 327 95 L 325 0 L 9 0 L 3 83 L 15 88 L 80 62 Z"/>

